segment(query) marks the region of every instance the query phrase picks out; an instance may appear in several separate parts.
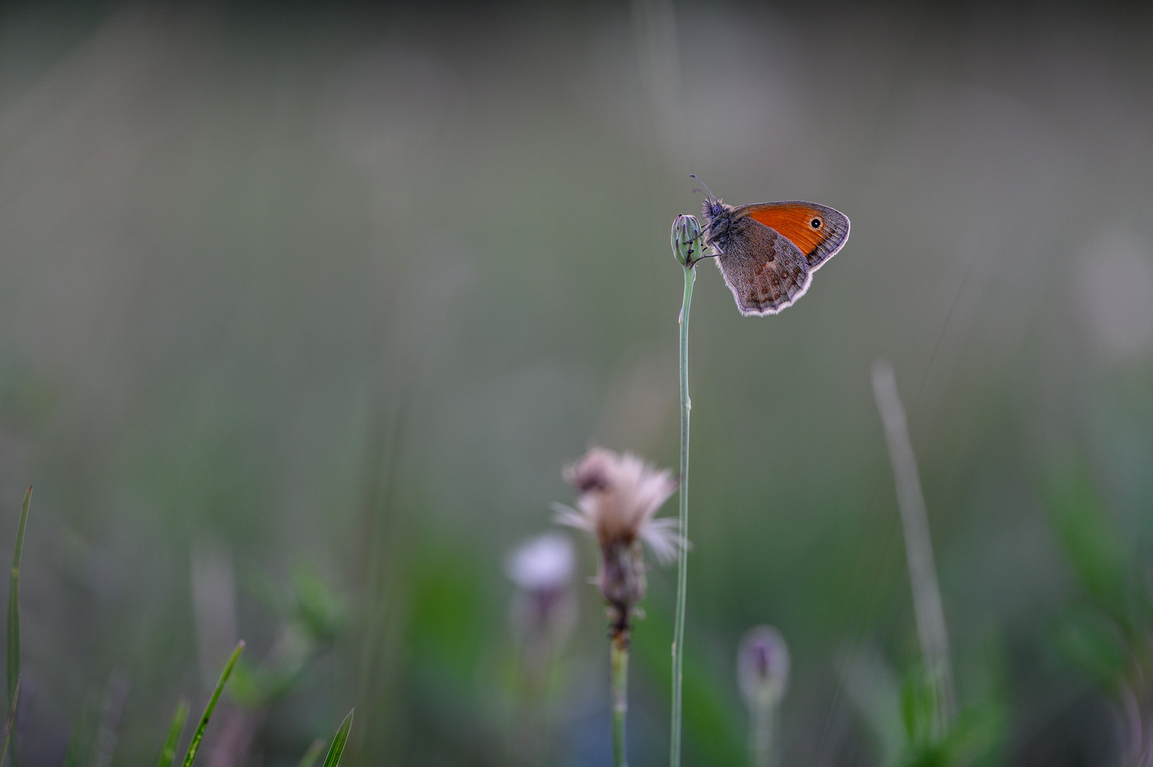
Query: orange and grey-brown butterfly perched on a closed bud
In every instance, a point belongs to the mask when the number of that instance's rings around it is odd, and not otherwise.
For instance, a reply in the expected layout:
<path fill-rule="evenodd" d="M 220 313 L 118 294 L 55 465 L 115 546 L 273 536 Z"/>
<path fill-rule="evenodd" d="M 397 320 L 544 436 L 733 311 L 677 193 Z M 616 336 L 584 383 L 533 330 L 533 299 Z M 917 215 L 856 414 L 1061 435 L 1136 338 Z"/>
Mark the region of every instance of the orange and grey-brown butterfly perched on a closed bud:
<path fill-rule="evenodd" d="M 791 200 L 733 206 L 708 187 L 704 191 L 704 245 L 711 246 L 743 315 L 791 307 L 805 295 L 813 272 L 849 240 L 849 217 L 828 205 Z"/>

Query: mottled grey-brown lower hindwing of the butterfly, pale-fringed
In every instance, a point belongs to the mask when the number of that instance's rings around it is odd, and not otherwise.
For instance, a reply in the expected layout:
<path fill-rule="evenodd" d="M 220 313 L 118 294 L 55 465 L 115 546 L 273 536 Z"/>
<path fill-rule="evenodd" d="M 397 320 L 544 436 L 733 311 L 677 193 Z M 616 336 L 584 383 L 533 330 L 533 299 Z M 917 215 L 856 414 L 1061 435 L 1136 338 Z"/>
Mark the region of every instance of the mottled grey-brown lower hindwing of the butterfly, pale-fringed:
<path fill-rule="evenodd" d="M 731 228 L 717 268 L 741 314 L 777 314 L 805 294 L 813 270 L 796 245 L 748 217 L 736 218 Z"/>

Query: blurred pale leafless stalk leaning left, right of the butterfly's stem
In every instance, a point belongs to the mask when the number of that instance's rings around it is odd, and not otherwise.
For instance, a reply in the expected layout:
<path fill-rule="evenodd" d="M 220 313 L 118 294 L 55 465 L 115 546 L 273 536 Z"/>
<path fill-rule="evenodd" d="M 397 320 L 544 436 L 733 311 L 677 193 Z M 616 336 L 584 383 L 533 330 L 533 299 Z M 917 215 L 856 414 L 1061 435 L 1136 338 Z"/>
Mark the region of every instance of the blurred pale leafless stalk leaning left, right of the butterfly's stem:
<path fill-rule="evenodd" d="M 921 654 L 934 693 L 935 727 L 944 735 L 956 713 L 952 685 L 952 664 L 949 661 L 949 633 L 941 607 L 941 587 L 933 564 L 933 542 L 925 496 L 917 473 L 917 457 L 909 438 L 905 408 L 897 394 L 897 378 L 892 366 L 882 360 L 873 364 L 873 393 L 884 423 L 884 436 L 892 461 L 892 478 L 897 484 L 897 506 L 905 534 L 905 556 L 909 561 L 909 580 L 913 591 L 913 611 Z"/>

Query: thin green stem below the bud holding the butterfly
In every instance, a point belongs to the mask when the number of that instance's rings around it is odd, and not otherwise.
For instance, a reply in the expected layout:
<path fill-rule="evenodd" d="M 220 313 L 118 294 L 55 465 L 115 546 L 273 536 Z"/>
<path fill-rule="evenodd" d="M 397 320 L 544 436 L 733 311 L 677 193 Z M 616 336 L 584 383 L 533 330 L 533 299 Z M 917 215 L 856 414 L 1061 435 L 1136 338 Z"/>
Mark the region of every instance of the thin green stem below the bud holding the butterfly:
<path fill-rule="evenodd" d="M 688 307 L 693 300 L 696 269 L 685 264 L 685 299 L 680 304 L 680 535 L 688 540 Z M 677 550 L 677 617 L 672 630 L 672 727 L 669 745 L 670 767 L 680 767 L 681 666 L 685 655 L 685 592 L 688 586 L 688 550 Z"/>

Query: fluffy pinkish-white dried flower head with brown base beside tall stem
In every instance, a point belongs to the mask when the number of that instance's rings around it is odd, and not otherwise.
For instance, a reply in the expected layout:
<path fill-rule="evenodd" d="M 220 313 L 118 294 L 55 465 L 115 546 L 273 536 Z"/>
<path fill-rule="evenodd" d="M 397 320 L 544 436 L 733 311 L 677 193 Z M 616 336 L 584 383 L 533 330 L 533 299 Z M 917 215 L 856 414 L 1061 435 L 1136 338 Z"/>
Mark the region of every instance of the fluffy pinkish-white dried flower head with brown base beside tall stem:
<path fill-rule="evenodd" d="M 636 603 L 645 596 L 641 542 L 661 562 L 676 557 L 685 541 L 677 520 L 656 519 L 656 512 L 677 489 L 672 474 L 646 465 L 632 453 L 594 448 L 565 479 L 576 490 L 576 509 L 558 509 L 558 521 L 582 529 L 601 547 L 596 582 L 610 606 L 613 637 L 627 641 Z"/>

